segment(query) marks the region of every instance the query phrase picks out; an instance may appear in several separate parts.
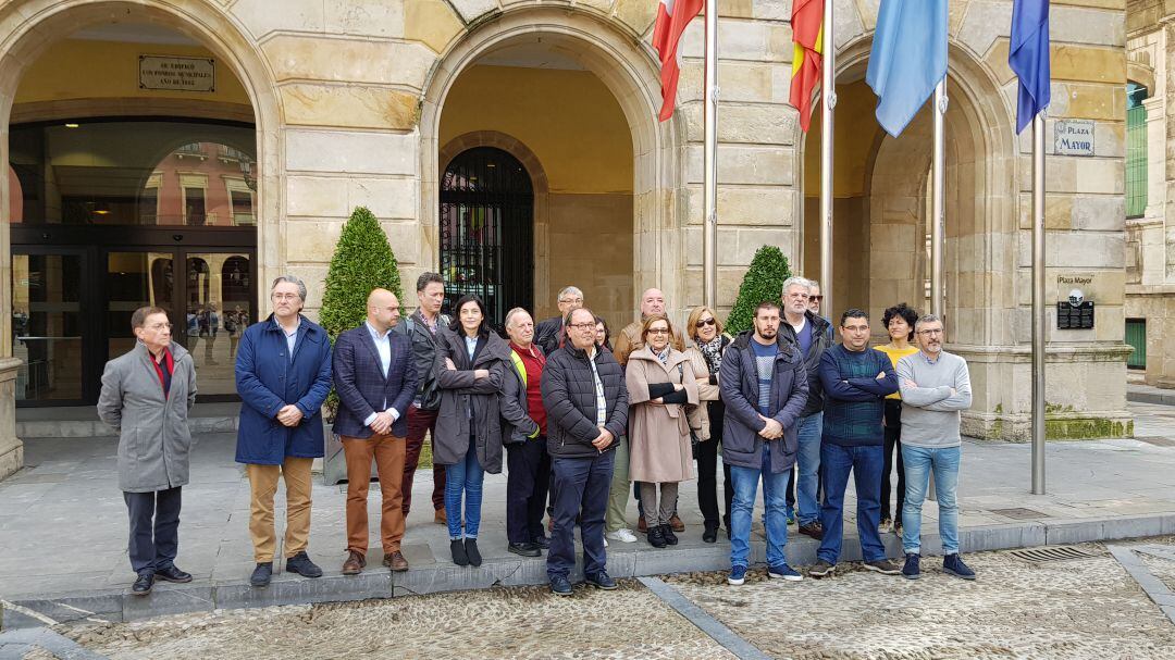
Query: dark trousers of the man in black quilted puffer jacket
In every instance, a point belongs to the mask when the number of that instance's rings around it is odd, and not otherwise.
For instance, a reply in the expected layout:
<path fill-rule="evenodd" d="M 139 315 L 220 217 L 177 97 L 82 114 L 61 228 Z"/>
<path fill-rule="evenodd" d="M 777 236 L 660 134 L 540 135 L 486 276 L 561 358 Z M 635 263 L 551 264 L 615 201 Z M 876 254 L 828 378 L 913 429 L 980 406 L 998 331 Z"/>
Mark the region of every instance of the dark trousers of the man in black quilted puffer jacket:
<path fill-rule="evenodd" d="M 546 555 L 548 578 L 565 578 L 576 565 L 576 517 L 579 518 L 579 538 L 584 546 L 584 574 L 592 575 L 606 567 L 604 512 L 615 460 L 615 451 L 585 458 L 551 459 L 555 528 Z"/>

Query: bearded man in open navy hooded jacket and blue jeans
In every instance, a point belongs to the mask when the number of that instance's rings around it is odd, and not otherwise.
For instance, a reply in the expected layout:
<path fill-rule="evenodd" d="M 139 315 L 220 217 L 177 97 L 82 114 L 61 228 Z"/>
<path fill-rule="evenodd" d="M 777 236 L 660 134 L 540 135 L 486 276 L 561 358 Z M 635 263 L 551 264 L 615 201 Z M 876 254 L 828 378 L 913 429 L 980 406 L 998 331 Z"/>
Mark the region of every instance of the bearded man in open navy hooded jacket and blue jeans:
<path fill-rule="evenodd" d="M 763 480 L 764 526 L 767 532 L 767 577 L 799 580 L 787 565 L 787 478 L 799 451 L 797 425 L 807 403 L 804 356 L 779 332 L 779 303 L 764 302 L 754 310 L 754 330 L 731 343 L 718 375 L 726 417 L 723 422 L 723 463 L 731 466 L 734 501 L 731 505 L 731 573 L 726 581 L 741 585 L 751 559 L 751 518 L 756 491 Z"/>

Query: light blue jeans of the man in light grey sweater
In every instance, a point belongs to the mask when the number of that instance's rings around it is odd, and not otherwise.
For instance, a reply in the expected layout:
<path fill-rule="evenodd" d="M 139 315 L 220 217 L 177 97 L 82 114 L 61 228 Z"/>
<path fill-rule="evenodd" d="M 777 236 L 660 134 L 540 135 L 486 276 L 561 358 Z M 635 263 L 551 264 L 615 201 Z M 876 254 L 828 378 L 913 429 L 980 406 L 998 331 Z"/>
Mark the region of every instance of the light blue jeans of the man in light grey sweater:
<path fill-rule="evenodd" d="M 907 553 L 922 550 L 922 501 L 926 499 L 931 470 L 939 498 L 939 537 L 942 554 L 959 552 L 959 459 L 962 447 L 926 449 L 901 445 L 906 464 L 906 504 L 901 509 L 901 548 Z"/>

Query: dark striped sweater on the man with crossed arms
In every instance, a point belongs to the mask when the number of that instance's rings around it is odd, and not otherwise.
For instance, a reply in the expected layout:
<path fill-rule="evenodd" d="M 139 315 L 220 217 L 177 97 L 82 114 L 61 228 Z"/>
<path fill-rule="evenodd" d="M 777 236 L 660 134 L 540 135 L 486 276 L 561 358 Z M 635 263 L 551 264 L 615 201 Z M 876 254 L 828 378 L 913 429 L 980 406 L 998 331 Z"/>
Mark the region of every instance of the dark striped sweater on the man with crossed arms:
<path fill-rule="evenodd" d="M 878 373 L 885 378 L 878 378 Z M 881 419 L 885 397 L 898 391 L 889 357 L 865 349 L 855 352 L 837 344 L 820 358 L 824 386 L 822 442 L 842 446 L 884 444 Z"/>

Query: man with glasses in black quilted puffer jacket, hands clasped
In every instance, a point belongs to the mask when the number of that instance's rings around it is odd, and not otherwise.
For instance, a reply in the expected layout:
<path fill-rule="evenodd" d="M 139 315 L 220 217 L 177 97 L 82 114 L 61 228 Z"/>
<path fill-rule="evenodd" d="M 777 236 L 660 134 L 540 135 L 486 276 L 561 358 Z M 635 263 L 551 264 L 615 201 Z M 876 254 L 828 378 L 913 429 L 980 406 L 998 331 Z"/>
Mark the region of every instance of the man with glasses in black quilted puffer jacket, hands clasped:
<path fill-rule="evenodd" d="M 624 372 L 612 353 L 596 346 L 596 315 L 586 308 L 575 309 L 564 326 L 566 342 L 546 359 L 540 384 L 555 499 L 546 577 L 557 595 L 571 595 L 577 517 L 585 581 L 603 590 L 616 588 L 616 580 L 605 570 L 604 511 L 616 458 L 612 450 L 629 423 Z"/>

